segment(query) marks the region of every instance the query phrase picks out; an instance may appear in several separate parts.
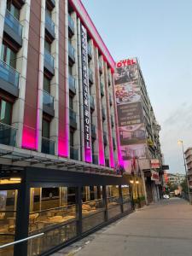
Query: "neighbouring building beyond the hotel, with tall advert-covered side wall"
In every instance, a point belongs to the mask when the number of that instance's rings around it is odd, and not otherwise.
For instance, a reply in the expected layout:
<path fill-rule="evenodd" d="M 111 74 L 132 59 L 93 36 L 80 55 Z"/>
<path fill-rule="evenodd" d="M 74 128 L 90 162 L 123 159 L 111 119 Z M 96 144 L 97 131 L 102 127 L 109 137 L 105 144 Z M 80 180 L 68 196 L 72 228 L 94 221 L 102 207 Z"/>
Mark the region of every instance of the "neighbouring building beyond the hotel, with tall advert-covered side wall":
<path fill-rule="evenodd" d="M 163 185 L 160 125 L 137 58 L 116 62 L 114 79 L 125 172 L 138 177 L 141 173 L 147 202 L 158 201 Z"/>

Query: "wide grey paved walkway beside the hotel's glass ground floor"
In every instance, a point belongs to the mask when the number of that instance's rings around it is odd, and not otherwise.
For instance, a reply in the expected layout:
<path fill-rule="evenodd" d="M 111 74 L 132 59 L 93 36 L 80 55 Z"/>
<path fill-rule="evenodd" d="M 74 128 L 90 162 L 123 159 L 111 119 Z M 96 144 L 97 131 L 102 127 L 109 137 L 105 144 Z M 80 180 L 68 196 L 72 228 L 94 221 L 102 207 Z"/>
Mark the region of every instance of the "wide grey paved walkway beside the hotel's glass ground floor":
<path fill-rule="evenodd" d="M 73 254 L 192 255 L 192 207 L 178 198 L 160 201 L 133 212 L 54 255 Z"/>

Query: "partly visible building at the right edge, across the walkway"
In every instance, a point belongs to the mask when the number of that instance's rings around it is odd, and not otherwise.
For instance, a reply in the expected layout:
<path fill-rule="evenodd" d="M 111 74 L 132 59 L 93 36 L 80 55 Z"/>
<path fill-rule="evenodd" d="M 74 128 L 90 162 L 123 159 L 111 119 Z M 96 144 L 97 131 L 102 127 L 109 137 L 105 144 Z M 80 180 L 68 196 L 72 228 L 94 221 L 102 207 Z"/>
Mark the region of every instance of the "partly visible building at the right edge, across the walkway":
<path fill-rule="evenodd" d="M 185 164 L 187 168 L 188 175 L 188 186 L 189 186 L 189 195 L 190 201 L 192 200 L 192 148 L 187 148 L 184 152 L 185 155 Z"/>

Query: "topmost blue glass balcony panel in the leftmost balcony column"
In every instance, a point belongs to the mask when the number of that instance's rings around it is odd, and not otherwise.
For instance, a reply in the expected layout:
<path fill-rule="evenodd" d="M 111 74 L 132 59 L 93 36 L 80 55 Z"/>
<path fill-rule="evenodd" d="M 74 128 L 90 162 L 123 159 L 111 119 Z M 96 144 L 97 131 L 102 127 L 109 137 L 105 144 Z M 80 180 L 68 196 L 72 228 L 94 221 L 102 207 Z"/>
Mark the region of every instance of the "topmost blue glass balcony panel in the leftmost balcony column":
<path fill-rule="evenodd" d="M 20 21 L 15 18 L 14 15 L 11 15 L 9 10 L 6 10 L 4 22 L 20 37 L 22 37 L 23 27 L 20 25 Z"/>

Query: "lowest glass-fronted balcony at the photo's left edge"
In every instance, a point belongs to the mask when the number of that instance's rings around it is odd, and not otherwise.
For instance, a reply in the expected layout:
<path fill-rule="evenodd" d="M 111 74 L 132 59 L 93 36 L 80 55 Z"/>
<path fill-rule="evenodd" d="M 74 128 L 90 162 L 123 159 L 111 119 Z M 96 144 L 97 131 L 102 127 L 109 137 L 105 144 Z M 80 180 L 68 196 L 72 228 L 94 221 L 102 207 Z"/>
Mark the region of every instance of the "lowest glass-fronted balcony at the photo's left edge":
<path fill-rule="evenodd" d="M 0 123 L 0 143 L 15 147 L 17 129 L 10 125 Z"/>

